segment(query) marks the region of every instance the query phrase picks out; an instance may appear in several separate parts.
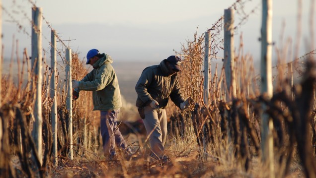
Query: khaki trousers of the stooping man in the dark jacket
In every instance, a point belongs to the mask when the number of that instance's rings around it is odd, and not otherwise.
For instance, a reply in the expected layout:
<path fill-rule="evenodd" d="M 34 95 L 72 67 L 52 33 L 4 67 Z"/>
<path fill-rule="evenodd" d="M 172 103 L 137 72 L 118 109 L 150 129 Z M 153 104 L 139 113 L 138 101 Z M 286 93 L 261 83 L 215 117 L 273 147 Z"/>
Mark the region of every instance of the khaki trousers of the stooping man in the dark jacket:
<path fill-rule="evenodd" d="M 164 155 L 164 144 L 167 137 L 167 115 L 164 109 L 144 107 L 143 119 L 147 134 L 150 135 L 150 144 L 153 153 L 161 158 Z"/>

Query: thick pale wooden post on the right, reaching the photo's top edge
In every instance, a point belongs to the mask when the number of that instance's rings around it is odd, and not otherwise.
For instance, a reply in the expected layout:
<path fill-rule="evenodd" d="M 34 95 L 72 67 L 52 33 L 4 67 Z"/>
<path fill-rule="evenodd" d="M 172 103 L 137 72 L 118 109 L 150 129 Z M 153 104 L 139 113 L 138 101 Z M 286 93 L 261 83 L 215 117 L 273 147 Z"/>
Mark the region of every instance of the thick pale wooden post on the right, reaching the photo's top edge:
<path fill-rule="evenodd" d="M 268 99 L 273 96 L 272 86 L 272 0 L 262 0 L 261 27 L 261 94 Z M 262 161 L 269 166 L 269 178 L 274 178 L 273 122 L 264 113 L 267 106 L 262 104 L 261 148 Z"/>

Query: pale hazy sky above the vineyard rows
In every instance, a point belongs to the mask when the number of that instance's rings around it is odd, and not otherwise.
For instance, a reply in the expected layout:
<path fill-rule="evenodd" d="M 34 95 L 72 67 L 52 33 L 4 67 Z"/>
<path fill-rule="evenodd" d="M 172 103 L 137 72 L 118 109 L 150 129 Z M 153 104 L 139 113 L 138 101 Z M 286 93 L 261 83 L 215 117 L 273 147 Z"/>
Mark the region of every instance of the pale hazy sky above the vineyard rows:
<path fill-rule="evenodd" d="M 2 0 L 6 11 L 2 12 L 2 33 L 4 57 L 11 56 L 12 39 L 19 40 L 19 48 L 27 48 L 30 54 L 31 39 L 23 29 L 31 34 L 31 0 Z M 243 34 L 244 53 L 255 59 L 260 54 L 261 0 L 243 0 L 244 11 L 258 6 L 236 31 L 236 48 L 239 35 Z M 310 39 L 309 13 L 313 0 L 302 0 L 302 40 L 301 53 L 306 50 L 306 39 Z M 180 52 L 181 44 L 193 35 L 204 33 L 220 17 L 224 9 L 235 0 L 37 0 L 45 17 L 43 24 L 43 48 L 48 52 L 51 24 L 62 40 L 81 58 L 87 51 L 96 48 L 116 60 L 160 61 L 173 50 Z M 273 2 L 273 41 L 281 44 L 280 34 L 295 42 L 297 32 L 297 12 L 299 0 L 274 0 Z M 315 6 L 315 5 L 314 5 Z M 315 10 L 315 7 L 314 7 Z M 13 19 L 12 19 L 13 16 Z M 241 16 L 235 14 L 235 21 Z M 314 21 L 315 21 L 314 13 Z M 17 23 L 22 24 L 19 30 Z M 285 24 L 285 30 L 282 27 Z M 315 31 L 314 23 L 314 31 Z M 283 40 L 285 41 L 285 40 Z M 314 39 L 314 41 L 316 41 Z M 61 48 L 61 47 L 60 47 Z M 22 51 L 22 50 L 21 50 Z M 22 52 L 21 52 L 22 54 Z M 49 54 L 48 54 L 49 55 Z M 221 56 L 221 55 L 220 55 Z"/>

